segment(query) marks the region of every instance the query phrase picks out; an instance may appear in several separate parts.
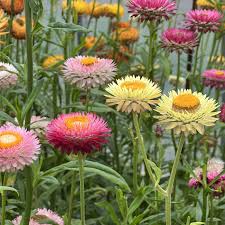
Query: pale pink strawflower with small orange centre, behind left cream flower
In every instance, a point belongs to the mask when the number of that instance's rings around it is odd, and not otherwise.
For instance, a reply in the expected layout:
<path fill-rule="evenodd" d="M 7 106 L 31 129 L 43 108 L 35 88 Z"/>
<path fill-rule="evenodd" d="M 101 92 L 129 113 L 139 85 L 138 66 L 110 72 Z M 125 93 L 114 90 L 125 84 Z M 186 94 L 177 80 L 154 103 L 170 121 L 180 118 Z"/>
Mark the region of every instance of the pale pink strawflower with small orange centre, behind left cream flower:
<path fill-rule="evenodd" d="M 116 65 L 111 59 L 77 56 L 63 65 L 64 79 L 79 88 L 94 88 L 109 83 L 116 75 Z"/>

